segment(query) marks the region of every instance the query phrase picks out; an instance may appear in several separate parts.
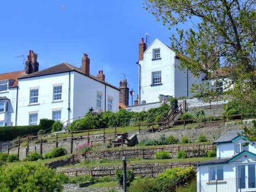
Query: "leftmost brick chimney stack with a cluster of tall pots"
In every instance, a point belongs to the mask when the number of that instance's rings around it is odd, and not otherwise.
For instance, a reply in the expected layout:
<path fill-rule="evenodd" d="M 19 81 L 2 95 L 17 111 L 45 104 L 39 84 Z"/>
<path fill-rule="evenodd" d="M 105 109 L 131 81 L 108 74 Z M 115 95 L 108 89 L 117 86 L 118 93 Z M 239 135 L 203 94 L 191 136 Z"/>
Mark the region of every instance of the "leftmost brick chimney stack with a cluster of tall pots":
<path fill-rule="evenodd" d="M 37 72 L 39 68 L 39 63 L 37 62 L 37 54 L 29 50 L 29 55 L 26 60 L 25 73 L 31 74 Z"/>

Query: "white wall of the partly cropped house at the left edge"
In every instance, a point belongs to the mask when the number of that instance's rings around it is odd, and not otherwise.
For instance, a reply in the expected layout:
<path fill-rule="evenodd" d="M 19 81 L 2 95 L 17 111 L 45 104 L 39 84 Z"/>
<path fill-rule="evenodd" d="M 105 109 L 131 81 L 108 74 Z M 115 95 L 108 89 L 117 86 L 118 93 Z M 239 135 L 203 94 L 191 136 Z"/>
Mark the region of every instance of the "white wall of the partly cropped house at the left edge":
<path fill-rule="evenodd" d="M 6 122 L 7 126 L 12 126 L 15 125 L 17 88 L 8 88 L 7 91 L 0 92 L 0 97 L 4 96 L 10 100 L 8 101 L 8 112 L 0 112 L 0 122 Z"/>

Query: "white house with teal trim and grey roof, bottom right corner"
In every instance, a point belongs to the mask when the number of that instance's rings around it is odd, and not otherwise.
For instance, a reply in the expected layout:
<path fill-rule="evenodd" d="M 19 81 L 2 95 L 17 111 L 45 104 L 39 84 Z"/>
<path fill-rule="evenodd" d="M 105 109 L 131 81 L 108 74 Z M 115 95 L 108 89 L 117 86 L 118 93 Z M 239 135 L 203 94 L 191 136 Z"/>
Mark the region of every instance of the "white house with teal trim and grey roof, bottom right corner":
<path fill-rule="evenodd" d="M 256 191 L 256 145 L 229 131 L 214 141 L 217 159 L 196 163 L 197 191 Z"/>

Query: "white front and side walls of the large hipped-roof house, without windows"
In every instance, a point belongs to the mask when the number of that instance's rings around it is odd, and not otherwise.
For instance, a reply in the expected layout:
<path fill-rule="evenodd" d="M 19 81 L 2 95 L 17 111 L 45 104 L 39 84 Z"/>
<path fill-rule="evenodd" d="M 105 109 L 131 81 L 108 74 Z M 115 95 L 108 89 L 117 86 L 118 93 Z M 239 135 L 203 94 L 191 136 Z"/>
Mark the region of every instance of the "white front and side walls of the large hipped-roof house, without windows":
<path fill-rule="evenodd" d="M 70 112 L 69 108 L 69 81 L 70 81 Z M 61 100 L 53 101 L 53 87 L 62 86 Z M 29 104 L 30 89 L 38 89 L 38 103 Z M 61 111 L 61 121 L 66 122 L 73 118 L 84 116 L 89 109 L 96 108 L 97 91 L 102 93 L 102 111 L 104 109 L 105 84 L 77 72 L 52 74 L 39 77 L 19 79 L 18 93 L 18 125 L 29 124 L 29 114 L 38 113 L 39 119 L 52 119 L 53 111 Z M 119 109 L 119 91 L 106 86 L 106 110 L 108 98 L 113 99 L 113 112 Z"/>

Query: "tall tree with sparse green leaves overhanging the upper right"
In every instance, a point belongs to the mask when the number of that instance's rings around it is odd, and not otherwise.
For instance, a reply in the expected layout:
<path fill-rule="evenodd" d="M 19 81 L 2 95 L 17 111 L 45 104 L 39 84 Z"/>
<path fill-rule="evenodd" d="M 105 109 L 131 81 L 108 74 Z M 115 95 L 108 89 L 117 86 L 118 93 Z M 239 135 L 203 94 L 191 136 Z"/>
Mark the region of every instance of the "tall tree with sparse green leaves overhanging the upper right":
<path fill-rule="evenodd" d="M 144 8 L 169 29 L 185 23 L 191 26 L 187 30 L 177 27 L 178 36 L 170 37 L 181 69 L 195 76 L 203 72 L 207 78 L 215 71 L 216 78 L 228 78 L 223 82 L 227 94 L 255 110 L 255 0 L 146 0 Z M 196 85 L 192 92 L 205 98 L 221 95 L 208 86 Z"/>

